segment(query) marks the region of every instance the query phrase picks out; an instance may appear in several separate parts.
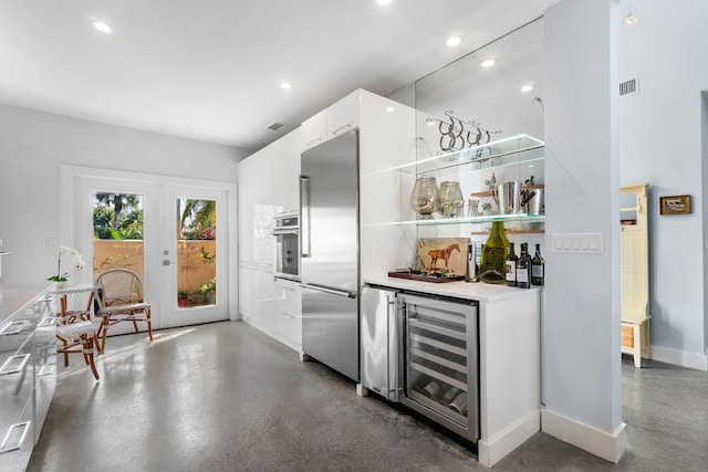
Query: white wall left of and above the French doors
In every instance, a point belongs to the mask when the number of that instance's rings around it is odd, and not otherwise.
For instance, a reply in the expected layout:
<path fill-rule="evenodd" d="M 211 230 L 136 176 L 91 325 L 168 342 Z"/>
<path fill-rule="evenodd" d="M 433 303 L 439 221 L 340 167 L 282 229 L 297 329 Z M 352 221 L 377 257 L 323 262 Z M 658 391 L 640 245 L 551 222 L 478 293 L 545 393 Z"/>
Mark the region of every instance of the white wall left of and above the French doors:
<path fill-rule="evenodd" d="M 60 244 L 60 167 L 236 182 L 240 149 L 0 105 L 2 283 L 42 283 Z M 51 239 L 53 247 L 46 247 Z"/>

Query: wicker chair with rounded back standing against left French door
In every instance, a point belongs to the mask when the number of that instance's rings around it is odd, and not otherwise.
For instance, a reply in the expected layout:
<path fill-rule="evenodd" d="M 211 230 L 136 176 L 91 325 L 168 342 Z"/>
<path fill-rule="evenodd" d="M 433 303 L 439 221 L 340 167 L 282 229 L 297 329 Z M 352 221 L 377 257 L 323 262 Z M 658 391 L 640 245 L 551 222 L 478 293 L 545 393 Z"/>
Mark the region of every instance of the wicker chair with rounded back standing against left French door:
<path fill-rule="evenodd" d="M 100 303 L 96 317 L 103 319 L 98 326 L 100 353 L 106 347 L 108 328 L 116 323 L 132 322 L 135 333 L 139 333 L 137 322 L 144 322 L 153 340 L 152 305 L 143 297 L 143 279 L 138 274 L 127 269 L 111 269 L 96 277 L 96 285 Z"/>

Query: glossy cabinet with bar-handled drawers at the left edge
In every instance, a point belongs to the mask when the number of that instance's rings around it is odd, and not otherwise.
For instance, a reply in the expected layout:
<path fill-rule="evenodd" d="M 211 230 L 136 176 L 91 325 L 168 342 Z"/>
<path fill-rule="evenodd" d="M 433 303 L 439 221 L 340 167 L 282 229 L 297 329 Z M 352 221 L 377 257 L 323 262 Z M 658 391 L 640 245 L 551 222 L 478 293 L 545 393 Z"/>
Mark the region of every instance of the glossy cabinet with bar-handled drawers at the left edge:
<path fill-rule="evenodd" d="M 24 470 L 56 387 L 52 286 L 0 287 L 0 470 Z"/>

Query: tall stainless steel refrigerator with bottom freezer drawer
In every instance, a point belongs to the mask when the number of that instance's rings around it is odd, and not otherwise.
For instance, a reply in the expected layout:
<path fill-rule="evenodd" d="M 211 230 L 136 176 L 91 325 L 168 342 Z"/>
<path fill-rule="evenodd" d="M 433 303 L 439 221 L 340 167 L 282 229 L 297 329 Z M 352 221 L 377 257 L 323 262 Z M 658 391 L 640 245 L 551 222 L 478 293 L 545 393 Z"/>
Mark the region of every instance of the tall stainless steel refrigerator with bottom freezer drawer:
<path fill-rule="evenodd" d="M 302 350 L 358 380 L 358 132 L 301 159 Z"/>

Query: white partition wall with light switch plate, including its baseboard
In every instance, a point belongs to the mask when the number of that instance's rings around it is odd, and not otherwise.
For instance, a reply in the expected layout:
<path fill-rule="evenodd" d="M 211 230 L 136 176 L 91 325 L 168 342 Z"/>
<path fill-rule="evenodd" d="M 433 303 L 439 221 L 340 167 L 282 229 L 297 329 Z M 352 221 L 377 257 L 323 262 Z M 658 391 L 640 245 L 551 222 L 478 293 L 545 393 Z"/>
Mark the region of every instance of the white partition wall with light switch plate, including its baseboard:
<path fill-rule="evenodd" d="M 544 431 L 611 461 L 621 411 L 617 28 L 614 0 L 545 12 Z M 600 255 L 553 252 L 562 233 L 601 233 Z"/>

